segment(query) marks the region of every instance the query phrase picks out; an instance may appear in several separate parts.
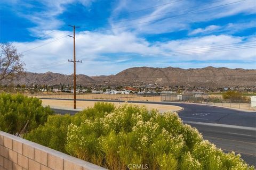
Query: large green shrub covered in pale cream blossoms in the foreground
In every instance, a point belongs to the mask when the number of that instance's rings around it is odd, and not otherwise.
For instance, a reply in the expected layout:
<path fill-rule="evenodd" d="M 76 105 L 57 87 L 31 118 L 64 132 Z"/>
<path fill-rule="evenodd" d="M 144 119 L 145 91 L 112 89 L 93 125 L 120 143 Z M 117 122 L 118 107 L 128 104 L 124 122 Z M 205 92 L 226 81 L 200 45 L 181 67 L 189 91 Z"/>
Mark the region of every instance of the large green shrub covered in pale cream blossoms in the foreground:
<path fill-rule="evenodd" d="M 58 124 L 51 116 L 44 126 L 28 134 L 29 139 L 49 146 L 54 135 L 61 133 L 63 141 L 57 142 L 60 150 L 109 169 L 129 169 L 133 165 L 140 169 L 254 169 L 239 155 L 225 154 L 203 140 L 195 128 L 182 123 L 177 113 L 160 114 L 132 104 L 115 108 L 97 103 L 67 117 L 66 123 L 58 125 L 65 126 L 61 132 L 49 132 Z M 49 143 L 39 138 L 44 131 Z"/>

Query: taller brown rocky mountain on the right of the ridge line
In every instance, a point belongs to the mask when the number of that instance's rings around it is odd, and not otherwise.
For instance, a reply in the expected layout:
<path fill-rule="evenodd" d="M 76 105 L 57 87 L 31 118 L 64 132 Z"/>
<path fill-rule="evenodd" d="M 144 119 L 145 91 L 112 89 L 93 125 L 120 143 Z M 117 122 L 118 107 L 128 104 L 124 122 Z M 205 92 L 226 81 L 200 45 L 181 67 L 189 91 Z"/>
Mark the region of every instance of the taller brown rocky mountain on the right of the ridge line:
<path fill-rule="evenodd" d="M 111 83 L 158 83 L 185 86 L 255 86 L 256 70 L 205 67 L 203 69 L 180 69 L 174 67 L 133 67 L 109 77 L 92 77 L 96 81 Z"/>

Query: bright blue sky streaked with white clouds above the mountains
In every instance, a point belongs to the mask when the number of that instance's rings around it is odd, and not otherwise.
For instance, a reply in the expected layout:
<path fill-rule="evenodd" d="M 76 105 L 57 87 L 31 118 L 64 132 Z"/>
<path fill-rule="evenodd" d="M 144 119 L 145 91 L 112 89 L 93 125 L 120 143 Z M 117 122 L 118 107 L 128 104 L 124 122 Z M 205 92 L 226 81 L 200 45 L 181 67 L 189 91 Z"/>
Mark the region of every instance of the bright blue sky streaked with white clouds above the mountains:
<path fill-rule="evenodd" d="M 2 0 L 0 41 L 23 54 L 26 70 L 78 74 L 135 66 L 256 67 L 254 0 Z"/>

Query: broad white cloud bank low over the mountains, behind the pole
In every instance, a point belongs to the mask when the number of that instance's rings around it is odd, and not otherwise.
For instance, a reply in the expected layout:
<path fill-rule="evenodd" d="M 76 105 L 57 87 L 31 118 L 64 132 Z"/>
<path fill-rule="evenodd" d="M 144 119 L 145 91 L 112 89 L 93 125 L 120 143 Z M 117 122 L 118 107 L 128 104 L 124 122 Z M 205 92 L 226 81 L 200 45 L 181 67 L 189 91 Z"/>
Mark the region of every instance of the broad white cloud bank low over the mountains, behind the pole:
<path fill-rule="evenodd" d="M 51 42 L 51 40 L 63 35 L 63 33 L 68 32 L 55 31 L 51 34 L 51 38 L 47 40 L 36 40 L 25 45 L 16 43 L 15 45 L 18 46 L 19 52 L 22 52 L 42 45 L 43 43 Z M 236 47 L 234 43 L 252 41 L 253 37 L 219 35 L 171 40 L 165 43 L 150 43 L 145 39 L 137 38 L 131 32 L 122 32 L 118 35 L 80 32 L 76 37 L 76 57 L 77 59 L 83 59 L 83 63 L 78 63 L 77 65 L 78 74 L 106 75 L 114 74 L 133 66 L 167 67 L 177 66 L 178 63 L 180 63 L 180 67 L 185 67 L 186 65 L 192 65 L 188 62 L 191 60 L 229 60 L 230 64 L 226 63 L 227 67 L 234 66 L 232 60 L 256 61 L 255 53 L 252 53 L 253 49 L 223 50 L 220 52 L 217 50 L 217 52 L 211 52 L 215 50 L 218 45 L 233 44 L 229 45 L 229 48 L 233 48 Z M 165 55 L 166 52 L 175 53 Z M 185 53 L 185 55 L 177 55 L 177 53 Z M 186 53 L 191 54 L 186 55 Z M 135 57 L 129 56 L 131 54 L 135 55 Z M 65 37 L 54 43 L 24 53 L 23 61 L 26 63 L 27 70 L 31 72 L 52 71 L 71 74 L 73 72 L 73 65 L 68 63 L 67 60 L 72 58 L 73 41 L 70 37 Z M 55 64 L 52 64 L 54 62 Z M 194 64 L 194 67 L 200 65 L 207 65 L 207 63 Z M 221 64 L 212 63 L 211 65 L 218 66 Z M 253 63 L 244 64 L 240 67 L 243 66 L 251 68 Z"/>

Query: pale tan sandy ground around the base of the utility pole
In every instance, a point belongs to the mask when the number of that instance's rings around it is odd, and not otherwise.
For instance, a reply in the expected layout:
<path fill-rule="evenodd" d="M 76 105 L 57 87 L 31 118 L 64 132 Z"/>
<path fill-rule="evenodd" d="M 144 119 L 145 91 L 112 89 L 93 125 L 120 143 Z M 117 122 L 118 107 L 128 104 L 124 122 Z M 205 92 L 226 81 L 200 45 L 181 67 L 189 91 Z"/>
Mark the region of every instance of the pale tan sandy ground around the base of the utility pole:
<path fill-rule="evenodd" d="M 52 108 L 65 108 L 71 109 L 73 108 L 73 101 L 72 100 L 52 100 L 52 99 L 42 99 L 44 106 L 50 106 Z M 95 101 L 76 101 L 77 109 L 81 110 L 87 107 L 93 107 Z M 124 103 L 117 103 L 112 102 L 115 106 L 123 105 Z M 157 104 L 134 104 L 139 106 L 146 106 L 149 110 L 150 109 L 157 109 L 160 112 L 172 111 L 177 112 L 182 109 L 179 106 L 171 106 L 171 105 L 157 105 Z"/>

